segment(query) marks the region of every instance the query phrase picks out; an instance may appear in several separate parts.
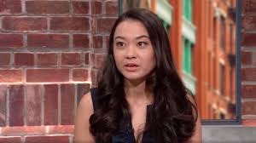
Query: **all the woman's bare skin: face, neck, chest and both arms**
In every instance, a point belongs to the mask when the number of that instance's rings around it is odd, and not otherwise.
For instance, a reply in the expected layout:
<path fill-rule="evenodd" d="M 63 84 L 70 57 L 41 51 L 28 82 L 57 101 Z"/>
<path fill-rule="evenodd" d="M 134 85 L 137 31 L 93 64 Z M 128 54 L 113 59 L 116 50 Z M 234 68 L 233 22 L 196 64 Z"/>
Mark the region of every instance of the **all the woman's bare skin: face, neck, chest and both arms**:
<path fill-rule="evenodd" d="M 137 138 L 146 122 L 146 107 L 152 103 L 153 94 L 146 88 L 146 78 L 155 66 L 154 49 L 148 31 L 141 22 L 125 20 L 117 26 L 113 37 L 113 55 L 119 72 L 125 78 L 125 98 L 130 105 L 131 123 Z M 127 64 L 136 64 L 137 67 L 127 67 Z M 88 93 L 79 103 L 75 118 L 74 142 L 94 142 L 89 131 L 91 114 L 93 107 Z M 196 122 L 195 134 L 190 142 L 201 142 L 200 118 Z"/>

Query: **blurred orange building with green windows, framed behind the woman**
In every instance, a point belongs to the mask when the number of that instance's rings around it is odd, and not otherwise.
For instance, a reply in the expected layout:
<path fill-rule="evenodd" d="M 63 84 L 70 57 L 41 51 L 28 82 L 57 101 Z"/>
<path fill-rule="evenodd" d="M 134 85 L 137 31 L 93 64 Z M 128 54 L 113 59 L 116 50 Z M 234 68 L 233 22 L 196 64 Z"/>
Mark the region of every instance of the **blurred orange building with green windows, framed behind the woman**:
<path fill-rule="evenodd" d="M 201 118 L 236 118 L 236 0 L 122 1 L 122 12 L 132 8 L 159 16 Z"/>

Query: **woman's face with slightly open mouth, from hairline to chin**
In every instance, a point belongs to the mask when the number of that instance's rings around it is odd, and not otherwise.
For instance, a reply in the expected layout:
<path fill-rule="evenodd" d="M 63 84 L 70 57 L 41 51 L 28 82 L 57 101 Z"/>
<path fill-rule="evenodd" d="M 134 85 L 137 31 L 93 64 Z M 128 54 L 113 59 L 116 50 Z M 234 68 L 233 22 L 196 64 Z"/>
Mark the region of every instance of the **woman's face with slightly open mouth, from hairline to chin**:
<path fill-rule="evenodd" d="M 129 81 L 143 81 L 154 69 L 154 50 L 140 21 L 119 23 L 113 35 L 113 56 L 119 72 Z"/>

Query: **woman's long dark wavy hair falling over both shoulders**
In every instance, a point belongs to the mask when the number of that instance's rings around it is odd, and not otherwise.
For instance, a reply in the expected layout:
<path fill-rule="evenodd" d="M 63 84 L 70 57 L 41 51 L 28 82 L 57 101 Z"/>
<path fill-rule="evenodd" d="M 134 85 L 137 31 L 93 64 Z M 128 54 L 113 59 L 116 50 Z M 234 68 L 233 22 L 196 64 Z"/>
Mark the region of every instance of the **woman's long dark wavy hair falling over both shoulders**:
<path fill-rule="evenodd" d="M 98 79 L 95 112 L 90 116 L 90 133 L 96 142 L 111 142 L 122 119 L 131 119 L 125 100 L 124 77 L 113 57 L 113 35 L 116 27 L 125 20 L 140 21 L 148 31 L 154 49 L 154 71 L 146 79 L 146 86 L 152 89 L 154 97 L 143 132 L 148 131 L 155 142 L 188 141 L 195 131 L 198 116 L 196 105 L 188 96 L 194 98 L 177 74 L 165 28 L 157 15 L 147 9 L 131 9 L 121 14 L 113 25 L 108 55 Z"/>

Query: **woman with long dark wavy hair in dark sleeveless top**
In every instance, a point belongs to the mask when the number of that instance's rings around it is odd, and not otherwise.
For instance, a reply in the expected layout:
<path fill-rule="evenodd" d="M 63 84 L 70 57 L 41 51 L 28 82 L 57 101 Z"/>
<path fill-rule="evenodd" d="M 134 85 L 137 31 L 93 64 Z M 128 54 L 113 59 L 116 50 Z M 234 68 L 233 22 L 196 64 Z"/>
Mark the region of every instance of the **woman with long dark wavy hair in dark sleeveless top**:
<path fill-rule="evenodd" d="M 121 14 L 97 89 L 79 103 L 74 141 L 201 142 L 193 95 L 178 77 L 165 28 L 147 9 Z"/>

